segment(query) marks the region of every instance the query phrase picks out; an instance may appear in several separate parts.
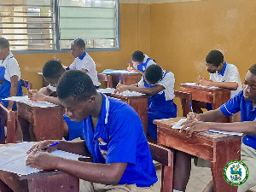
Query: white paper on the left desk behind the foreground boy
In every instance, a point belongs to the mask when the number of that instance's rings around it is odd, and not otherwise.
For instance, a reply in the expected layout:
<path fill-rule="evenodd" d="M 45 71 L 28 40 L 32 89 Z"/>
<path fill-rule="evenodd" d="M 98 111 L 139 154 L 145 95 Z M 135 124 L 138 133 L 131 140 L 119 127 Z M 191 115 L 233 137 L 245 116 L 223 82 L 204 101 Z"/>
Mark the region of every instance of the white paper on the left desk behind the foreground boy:
<path fill-rule="evenodd" d="M 15 101 L 15 102 L 24 102 L 26 104 L 29 104 L 31 106 L 39 107 L 39 108 L 50 108 L 50 107 L 56 107 L 58 105 L 55 105 L 50 102 L 32 102 L 28 96 L 10 96 L 8 98 L 5 98 L 3 100 L 9 100 L 9 101 Z"/>

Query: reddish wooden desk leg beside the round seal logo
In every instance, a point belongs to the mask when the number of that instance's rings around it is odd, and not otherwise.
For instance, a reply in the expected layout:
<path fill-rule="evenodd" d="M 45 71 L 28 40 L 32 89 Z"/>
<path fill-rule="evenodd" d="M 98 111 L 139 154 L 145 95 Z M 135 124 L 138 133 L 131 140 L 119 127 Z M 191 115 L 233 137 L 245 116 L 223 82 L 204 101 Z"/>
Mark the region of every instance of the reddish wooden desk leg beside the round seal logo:
<path fill-rule="evenodd" d="M 223 148 L 226 146 L 226 148 Z M 213 154 L 212 179 L 214 192 L 236 192 L 237 187 L 230 185 L 224 180 L 224 166 L 230 160 L 241 159 L 241 138 L 232 141 L 220 141 L 216 143 L 216 151 Z"/>

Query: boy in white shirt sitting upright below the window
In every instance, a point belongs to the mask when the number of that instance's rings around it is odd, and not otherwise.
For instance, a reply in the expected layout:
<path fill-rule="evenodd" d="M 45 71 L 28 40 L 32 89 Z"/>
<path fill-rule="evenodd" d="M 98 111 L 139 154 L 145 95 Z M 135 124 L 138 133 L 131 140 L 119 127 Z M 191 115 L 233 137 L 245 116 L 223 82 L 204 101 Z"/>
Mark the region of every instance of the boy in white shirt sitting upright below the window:
<path fill-rule="evenodd" d="M 85 52 L 85 43 L 82 38 L 73 40 L 71 44 L 71 54 L 75 59 L 69 67 L 66 67 L 66 70 L 77 69 L 87 73 L 90 76 L 90 79 L 92 79 L 92 82 L 96 88 L 99 88 L 101 83 L 98 80 L 95 62 L 90 55 Z"/>

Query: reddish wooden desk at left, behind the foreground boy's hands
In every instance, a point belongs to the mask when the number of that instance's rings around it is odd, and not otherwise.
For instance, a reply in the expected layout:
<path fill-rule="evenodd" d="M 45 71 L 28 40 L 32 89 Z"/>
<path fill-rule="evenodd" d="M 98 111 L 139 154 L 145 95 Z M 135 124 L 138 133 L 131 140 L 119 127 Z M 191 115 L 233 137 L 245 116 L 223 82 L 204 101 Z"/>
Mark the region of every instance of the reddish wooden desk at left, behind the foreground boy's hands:
<path fill-rule="evenodd" d="M 24 141 L 43 141 L 62 139 L 63 109 L 58 107 L 39 108 L 23 102 L 17 102 L 17 113 L 23 130 Z M 32 124 L 32 130 L 29 128 Z M 30 134 L 24 134 L 25 131 Z"/>

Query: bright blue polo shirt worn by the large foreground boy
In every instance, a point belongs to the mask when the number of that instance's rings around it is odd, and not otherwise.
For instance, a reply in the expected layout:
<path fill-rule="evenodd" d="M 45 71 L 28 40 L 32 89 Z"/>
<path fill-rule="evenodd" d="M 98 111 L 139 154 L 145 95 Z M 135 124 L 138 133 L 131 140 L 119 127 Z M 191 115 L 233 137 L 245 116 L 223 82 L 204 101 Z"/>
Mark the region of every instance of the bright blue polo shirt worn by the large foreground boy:
<path fill-rule="evenodd" d="M 84 140 L 95 163 L 127 163 L 118 184 L 149 187 L 157 182 L 152 155 L 136 111 L 125 102 L 103 95 L 95 131 L 84 119 Z M 102 143 L 98 139 L 102 138 Z"/>

